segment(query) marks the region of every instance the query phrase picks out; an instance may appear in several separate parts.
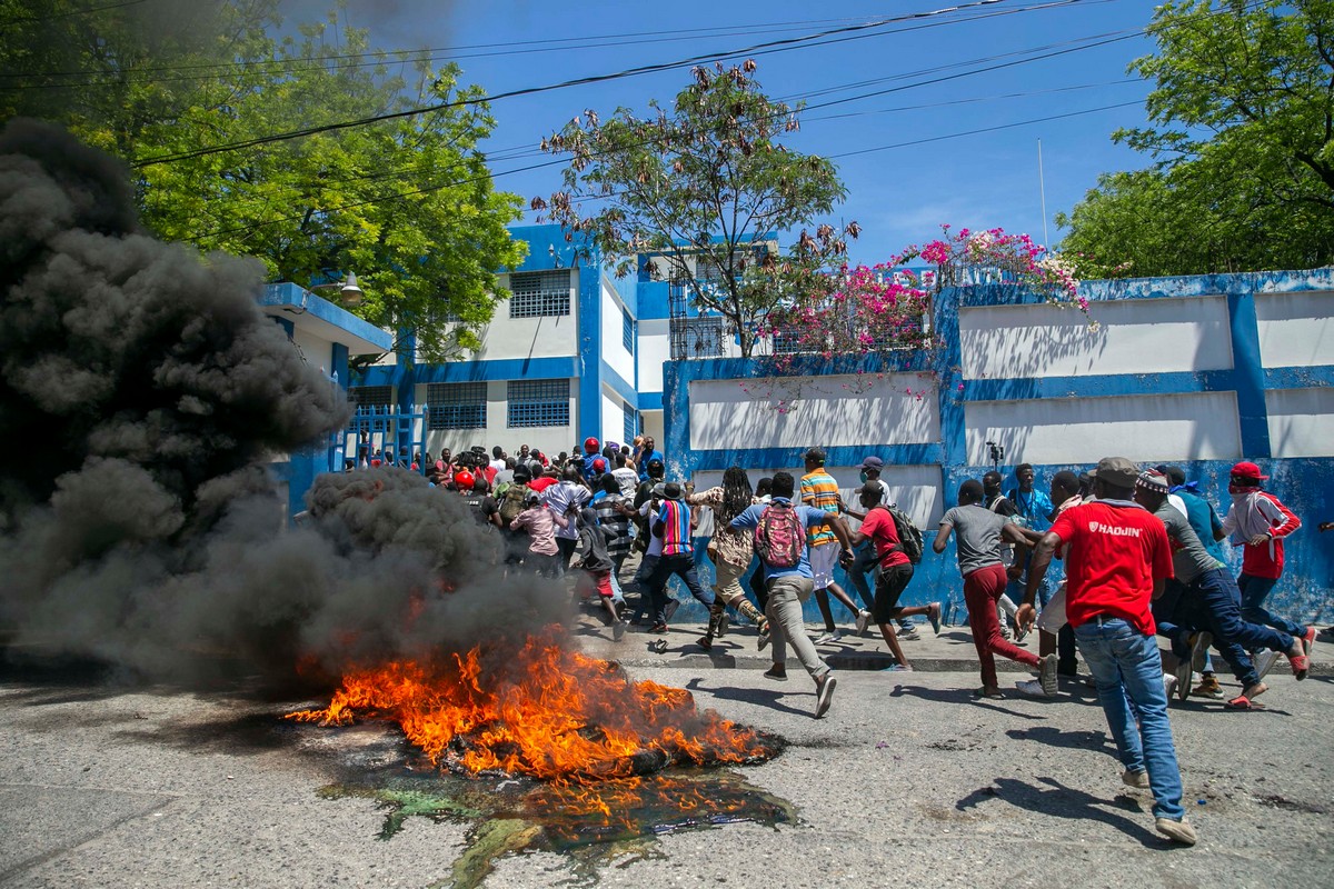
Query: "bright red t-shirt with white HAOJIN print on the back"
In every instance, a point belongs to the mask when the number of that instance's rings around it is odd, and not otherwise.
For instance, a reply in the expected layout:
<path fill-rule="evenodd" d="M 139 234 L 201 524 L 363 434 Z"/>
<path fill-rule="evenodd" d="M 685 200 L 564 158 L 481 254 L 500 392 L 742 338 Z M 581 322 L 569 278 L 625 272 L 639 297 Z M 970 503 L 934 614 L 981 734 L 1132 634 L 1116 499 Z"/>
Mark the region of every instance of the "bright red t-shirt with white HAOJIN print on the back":
<path fill-rule="evenodd" d="M 1066 617 L 1079 626 L 1098 614 L 1122 617 L 1155 632 L 1154 581 L 1171 577 L 1171 545 L 1162 520 L 1147 509 L 1095 500 L 1057 516 L 1051 533 L 1066 553 Z"/>

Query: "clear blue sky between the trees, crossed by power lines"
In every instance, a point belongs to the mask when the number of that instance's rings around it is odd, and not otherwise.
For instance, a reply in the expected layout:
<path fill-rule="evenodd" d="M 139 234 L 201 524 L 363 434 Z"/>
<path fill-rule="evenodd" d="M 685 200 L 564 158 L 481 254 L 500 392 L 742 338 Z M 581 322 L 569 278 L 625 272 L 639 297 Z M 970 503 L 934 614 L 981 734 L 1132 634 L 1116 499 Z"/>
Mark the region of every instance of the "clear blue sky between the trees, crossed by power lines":
<path fill-rule="evenodd" d="M 434 55 L 439 60 L 454 57 L 463 67 L 466 83 L 498 93 L 696 55 L 732 61 L 744 56 L 724 53 L 756 43 L 947 5 L 931 0 L 348 0 L 346 21 L 370 28 L 379 48 L 438 49 Z M 1047 8 L 1038 8 L 1042 5 Z M 327 4 L 315 0 L 288 0 L 287 24 L 323 8 Z M 1150 84 L 1131 80 L 1126 67 L 1153 51 L 1150 40 L 1134 33 L 1151 20 L 1153 11 L 1147 0 L 1074 0 L 1067 5 L 999 0 L 888 25 L 858 40 L 754 57 L 759 64 L 756 76 L 770 96 L 795 100 L 820 93 L 808 97 L 811 105 L 907 85 L 812 108 L 803 115 L 802 132 L 791 140 L 799 151 L 838 163 L 848 200 L 830 221 L 856 220 L 862 225 L 862 239 L 852 247 L 854 261 L 875 263 L 906 244 L 930 240 L 940 223 L 955 228 L 999 225 L 1042 241 L 1038 140 L 1047 231 L 1050 241 L 1058 243 L 1061 235 L 1053 217 L 1069 212 L 1095 185 L 1099 173 L 1149 163 L 1113 144 L 1110 135 L 1119 127 L 1146 123 L 1143 99 Z M 920 83 L 1039 52 L 1073 49 L 1097 39 L 1110 43 L 942 83 Z M 990 61 L 979 61 L 984 59 Z M 586 108 L 606 117 L 619 105 L 644 111 L 650 99 L 670 105 L 688 79 L 688 68 L 682 68 L 495 101 L 498 127 L 487 151 L 495 159 L 496 185 L 523 195 L 526 203 L 535 195 L 550 195 L 559 187 L 560 168 L 507 175 L 546 160 L 503 160 L 507 149 L 535 148 L 544 135 Z M 866 85 L 851 87 L 859 83 Z M 840 157 L 1073 112 L 1090 113 Z"/>

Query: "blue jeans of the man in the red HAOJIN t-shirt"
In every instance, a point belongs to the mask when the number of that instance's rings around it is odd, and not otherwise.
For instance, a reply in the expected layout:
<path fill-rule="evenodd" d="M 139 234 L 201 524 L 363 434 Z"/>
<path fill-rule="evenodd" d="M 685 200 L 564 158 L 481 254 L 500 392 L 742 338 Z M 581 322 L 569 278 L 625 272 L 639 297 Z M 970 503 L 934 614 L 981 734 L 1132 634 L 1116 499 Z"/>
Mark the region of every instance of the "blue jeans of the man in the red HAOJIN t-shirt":
<path fill-rule="evenodd" d="M 1122 766 L 1127 772 L 1149 772 L 1154 817 L 1181 821 L 1186 809 L 1181 805 L 1181 769 L 1167 721 L 1158 644 L 1125 620 L 1103 614 L 1077 626 L 1075 638 L 1098 686 Z M 1131 704 L 1139 717 L 1138 728 Z"/>

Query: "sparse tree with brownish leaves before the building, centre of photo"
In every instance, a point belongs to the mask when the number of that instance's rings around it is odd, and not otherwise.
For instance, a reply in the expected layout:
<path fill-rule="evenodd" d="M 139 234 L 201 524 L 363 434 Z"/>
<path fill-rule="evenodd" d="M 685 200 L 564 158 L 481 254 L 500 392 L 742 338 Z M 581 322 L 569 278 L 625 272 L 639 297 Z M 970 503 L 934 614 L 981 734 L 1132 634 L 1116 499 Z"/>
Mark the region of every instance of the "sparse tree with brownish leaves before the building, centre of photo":
<path fill-rule="evenodd" d="M 779 233 L 828 213 L 846 189 L 831 161 L 782 144 L 799 108 L 764 96 L 754 71 L 754 61 L 695 68 L 672 116 L 651 101 L 644 119 L 626 108 L 606 121 L 592 111 L 575 117 L 542 141 L 571 156 L 564 188 L 532 201 L 620 273 L 652 256 L 651 273 L 727 319 L 743 356 L 768 313 L 818 287 L 859 231 L 820 225 L 778 251 Z"/>

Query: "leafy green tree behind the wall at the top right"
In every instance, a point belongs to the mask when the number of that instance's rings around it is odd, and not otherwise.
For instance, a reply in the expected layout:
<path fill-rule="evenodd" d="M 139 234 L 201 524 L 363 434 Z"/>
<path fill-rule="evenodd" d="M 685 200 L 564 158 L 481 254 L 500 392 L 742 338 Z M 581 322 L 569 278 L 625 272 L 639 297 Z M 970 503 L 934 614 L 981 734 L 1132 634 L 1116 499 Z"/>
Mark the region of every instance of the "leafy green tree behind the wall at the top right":
<path fill-rule="evenodd" d="M 1069 215 L 1081 276 L 1310 268 L 1334 259 L 1334 1 L 1159 7 L 1154 124 L 1114 139 L 1154 167 L 1105 175 Z M 1081 256 L 1082 255 L 1082 256 Z"/>

